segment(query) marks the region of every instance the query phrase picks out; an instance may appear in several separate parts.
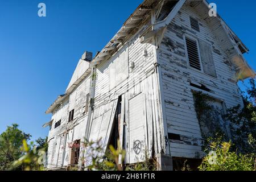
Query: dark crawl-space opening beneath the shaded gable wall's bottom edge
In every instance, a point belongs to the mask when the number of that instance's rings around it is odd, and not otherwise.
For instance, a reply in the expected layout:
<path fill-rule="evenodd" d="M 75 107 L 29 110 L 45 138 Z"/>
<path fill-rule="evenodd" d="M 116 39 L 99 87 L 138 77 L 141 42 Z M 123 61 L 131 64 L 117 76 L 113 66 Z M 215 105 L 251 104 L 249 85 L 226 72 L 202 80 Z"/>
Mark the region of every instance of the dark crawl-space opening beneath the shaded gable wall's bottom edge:
<path fill-rule="evenodd" d="M 199 171 L 202 159 L 172 158 L 174 171 Z"/>

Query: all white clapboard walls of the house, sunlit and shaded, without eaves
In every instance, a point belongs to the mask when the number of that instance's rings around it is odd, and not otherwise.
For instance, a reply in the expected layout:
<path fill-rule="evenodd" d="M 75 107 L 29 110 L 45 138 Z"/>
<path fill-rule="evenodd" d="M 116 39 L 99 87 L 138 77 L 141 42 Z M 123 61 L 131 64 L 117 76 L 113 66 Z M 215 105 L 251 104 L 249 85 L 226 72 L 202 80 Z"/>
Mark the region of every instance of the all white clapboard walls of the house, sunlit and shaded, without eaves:
<path fill-rule="evenodd" d="M 165 10 L 170 9 L 164 7 Z M 109 144 L 118 97 L 122 98 L 120 142 L 126 150 L 127 164 L 142 162 L 153 151 L 182 158 L 202 156 L 202 137 L 191 92 L 202 90 L 191 83 L 206 86 L 212 92 L 203 93 L 217 98 L 226 107 L 242 105 L 236 74 L 223 48 L 227 43 L 216 38 L 221 34 L 220 24 L 209 24 L 199 12 L 189 5 L 182 7 L 167 26 L 158 49 L 153 39 L 147 43 L 140 41 L 151 24 L 150 19 L 144 20 L 112 57 L 97 65 L 89 140 L 102 139 L 102 152 Z M 190 16 L 199 20 L 200 32 L 192 30 Z M 202 68 L 208 75 L 188 67 L 184 35 L 198 40 Z M 85 64 L 80 60 L 79 65 L 71 83 L 84 72 Z M 53 111 L 52 126 L 59 119 L 61 126 L 49 131 L 49 168 L 67 166 L 68 142 L 84 136 L 87 115 L 83 113 L 89 85 L 90 75 Z M 67 123 L 72 109 L 75 121 Z M 180 135 L 182 140 L 168 141 L 168 133 Z"/>

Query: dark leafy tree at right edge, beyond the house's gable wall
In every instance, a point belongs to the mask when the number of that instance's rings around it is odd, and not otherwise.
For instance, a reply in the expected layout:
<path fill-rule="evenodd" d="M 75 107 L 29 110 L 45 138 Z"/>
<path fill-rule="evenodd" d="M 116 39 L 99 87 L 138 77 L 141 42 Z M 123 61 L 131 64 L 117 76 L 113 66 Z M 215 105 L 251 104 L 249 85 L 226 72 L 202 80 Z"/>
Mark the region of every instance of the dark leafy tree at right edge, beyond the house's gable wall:
<path fill-rule="evenodd" d="M 256 153 L 256 83 L 250 79 L 246 92 L 241 92 L 243 105 L 228 109 L 225 119 L 232 123 L 233 143 L 243 154 Z"/>

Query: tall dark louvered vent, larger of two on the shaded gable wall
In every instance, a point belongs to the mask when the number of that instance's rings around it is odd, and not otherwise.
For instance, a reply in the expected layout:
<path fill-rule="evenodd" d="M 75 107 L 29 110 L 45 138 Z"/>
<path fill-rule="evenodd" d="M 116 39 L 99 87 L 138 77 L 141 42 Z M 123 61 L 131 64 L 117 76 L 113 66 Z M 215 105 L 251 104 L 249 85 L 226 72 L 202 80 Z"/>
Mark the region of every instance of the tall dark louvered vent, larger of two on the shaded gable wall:
<path fill-rule="evenodd" d="M 199 51 L 196 40 L 186 38 L 189 66 L 201 71 Z"/>

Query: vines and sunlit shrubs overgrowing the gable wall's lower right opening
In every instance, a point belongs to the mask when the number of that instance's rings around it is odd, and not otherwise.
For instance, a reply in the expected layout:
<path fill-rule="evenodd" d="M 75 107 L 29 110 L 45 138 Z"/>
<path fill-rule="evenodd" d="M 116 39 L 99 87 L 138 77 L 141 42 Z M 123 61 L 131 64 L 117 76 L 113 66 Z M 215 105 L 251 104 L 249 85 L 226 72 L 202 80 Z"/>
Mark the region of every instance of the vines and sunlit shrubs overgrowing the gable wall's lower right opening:
<path fill-rule="evenodd" d="M 246 92 L 241 92 L 243 106 L 238 105 L 221 114 L 209 104 L 208 95 L 195 92 L 195 108 L 204 138 L 205 158 L 201 170 L 240 170 L 256 169 L 256 84 L 250 80 Z M 221 116 L 221 118 L 220 118 Z M 217 119 L 216 119 L 217 118 Z M 228 123 L 228 131 L 221 127 L 220 121 Z"/>

